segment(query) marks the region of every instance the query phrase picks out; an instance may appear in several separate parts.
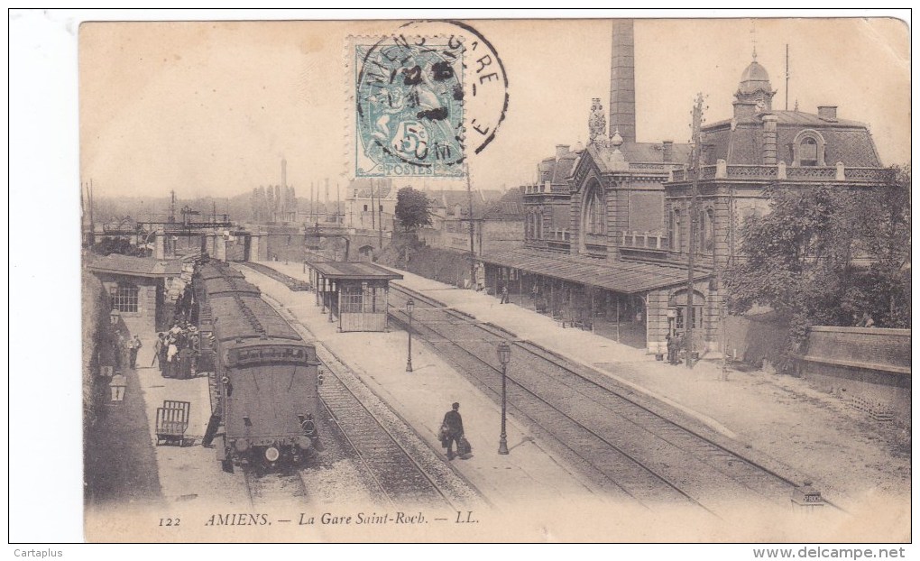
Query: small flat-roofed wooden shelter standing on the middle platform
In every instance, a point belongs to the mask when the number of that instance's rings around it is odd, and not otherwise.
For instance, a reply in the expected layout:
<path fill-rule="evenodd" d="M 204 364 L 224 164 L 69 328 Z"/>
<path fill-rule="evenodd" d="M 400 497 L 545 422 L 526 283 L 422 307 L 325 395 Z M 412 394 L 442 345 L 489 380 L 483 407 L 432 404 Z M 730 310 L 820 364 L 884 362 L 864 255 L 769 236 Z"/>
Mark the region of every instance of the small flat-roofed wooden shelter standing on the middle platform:
<path fill-rule="evenodd" d="M 316 305 L 339 321 L 339 331 L 385 331 L 390 281 L 402 275 L 366 261 L 306 262 Z"/>

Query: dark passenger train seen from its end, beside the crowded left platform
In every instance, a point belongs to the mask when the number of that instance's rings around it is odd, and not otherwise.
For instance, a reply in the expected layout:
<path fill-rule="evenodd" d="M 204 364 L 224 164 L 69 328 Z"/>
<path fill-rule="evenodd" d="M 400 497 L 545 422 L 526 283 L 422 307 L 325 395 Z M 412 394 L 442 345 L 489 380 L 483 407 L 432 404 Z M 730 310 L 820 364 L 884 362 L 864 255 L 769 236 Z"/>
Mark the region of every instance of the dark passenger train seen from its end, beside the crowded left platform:
<path fill-rule="evenodd" d="M 226 263 L 201 262 L 192 283 L 192 315 L 214 350 L 212 416 L 202 443 L 213 442 L 227 472 L 304 464 L 319 445 L 316 347 Z"/>

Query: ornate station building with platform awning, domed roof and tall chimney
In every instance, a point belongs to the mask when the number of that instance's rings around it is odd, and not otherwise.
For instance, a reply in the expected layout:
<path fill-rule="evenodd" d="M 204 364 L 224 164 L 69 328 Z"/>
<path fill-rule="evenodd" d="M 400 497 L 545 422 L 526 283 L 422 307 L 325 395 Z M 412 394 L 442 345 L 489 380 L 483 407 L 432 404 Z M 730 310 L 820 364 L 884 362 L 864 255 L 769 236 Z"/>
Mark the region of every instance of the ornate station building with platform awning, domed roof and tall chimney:
<path fill-rule="evenodd" d="M 524 186 L 524 247 L 485 253 L 490 292 L 650 353 L 694 326 L 694 349 L 718 350 L 723 311 L 719 271 L 739 258 L 745 217 L 768 212 L 769 186 L 807 189 L 883 184 L 868 127 L 837 116 L 773 109 L 776 90 L 756 61 L 742 72 L 733 117 L 702 128 L 696 203 L 690 146 L 636 140 L 632 23 L 616 21 L 610 129 L 592 101 L 589 142 L 559 145 Z M 691 221 L 696 223 L 689 289 Z M 690 318 L 684 318 L 686 305 Z M 726 348 L 728 349 L 728 348 Z"/>

